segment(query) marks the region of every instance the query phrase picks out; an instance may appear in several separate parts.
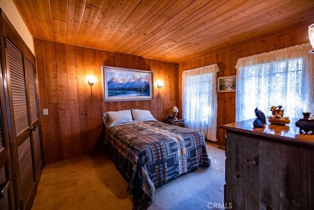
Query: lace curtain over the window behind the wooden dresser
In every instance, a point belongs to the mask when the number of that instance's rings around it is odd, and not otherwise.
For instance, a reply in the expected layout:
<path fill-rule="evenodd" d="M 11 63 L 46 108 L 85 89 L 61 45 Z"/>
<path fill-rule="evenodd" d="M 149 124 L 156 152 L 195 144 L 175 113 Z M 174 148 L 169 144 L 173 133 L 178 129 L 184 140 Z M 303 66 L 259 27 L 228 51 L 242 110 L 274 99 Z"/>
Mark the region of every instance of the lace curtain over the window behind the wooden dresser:
<path fill-rule="evenodd" d="M 314 111 L 314 55 L 310 44 L 297 45 L 236 62 L 235 121 L 256 118 L 258 107 L 282 105 L 284 116 L 302 118 Z"/>

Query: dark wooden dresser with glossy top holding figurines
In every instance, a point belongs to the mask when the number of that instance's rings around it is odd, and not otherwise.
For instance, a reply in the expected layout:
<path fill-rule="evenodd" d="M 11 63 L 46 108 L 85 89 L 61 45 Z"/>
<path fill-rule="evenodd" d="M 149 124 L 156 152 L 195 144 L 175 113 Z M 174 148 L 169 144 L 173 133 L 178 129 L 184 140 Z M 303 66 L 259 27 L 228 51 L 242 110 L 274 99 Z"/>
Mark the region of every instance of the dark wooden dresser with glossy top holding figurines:
<path fill-rule="evenodd" d="M 296 120 L 221 126 L 227 129 L 225 203 L 235 210 L 314 209 L 314 135 L 300 134 Z"/>

